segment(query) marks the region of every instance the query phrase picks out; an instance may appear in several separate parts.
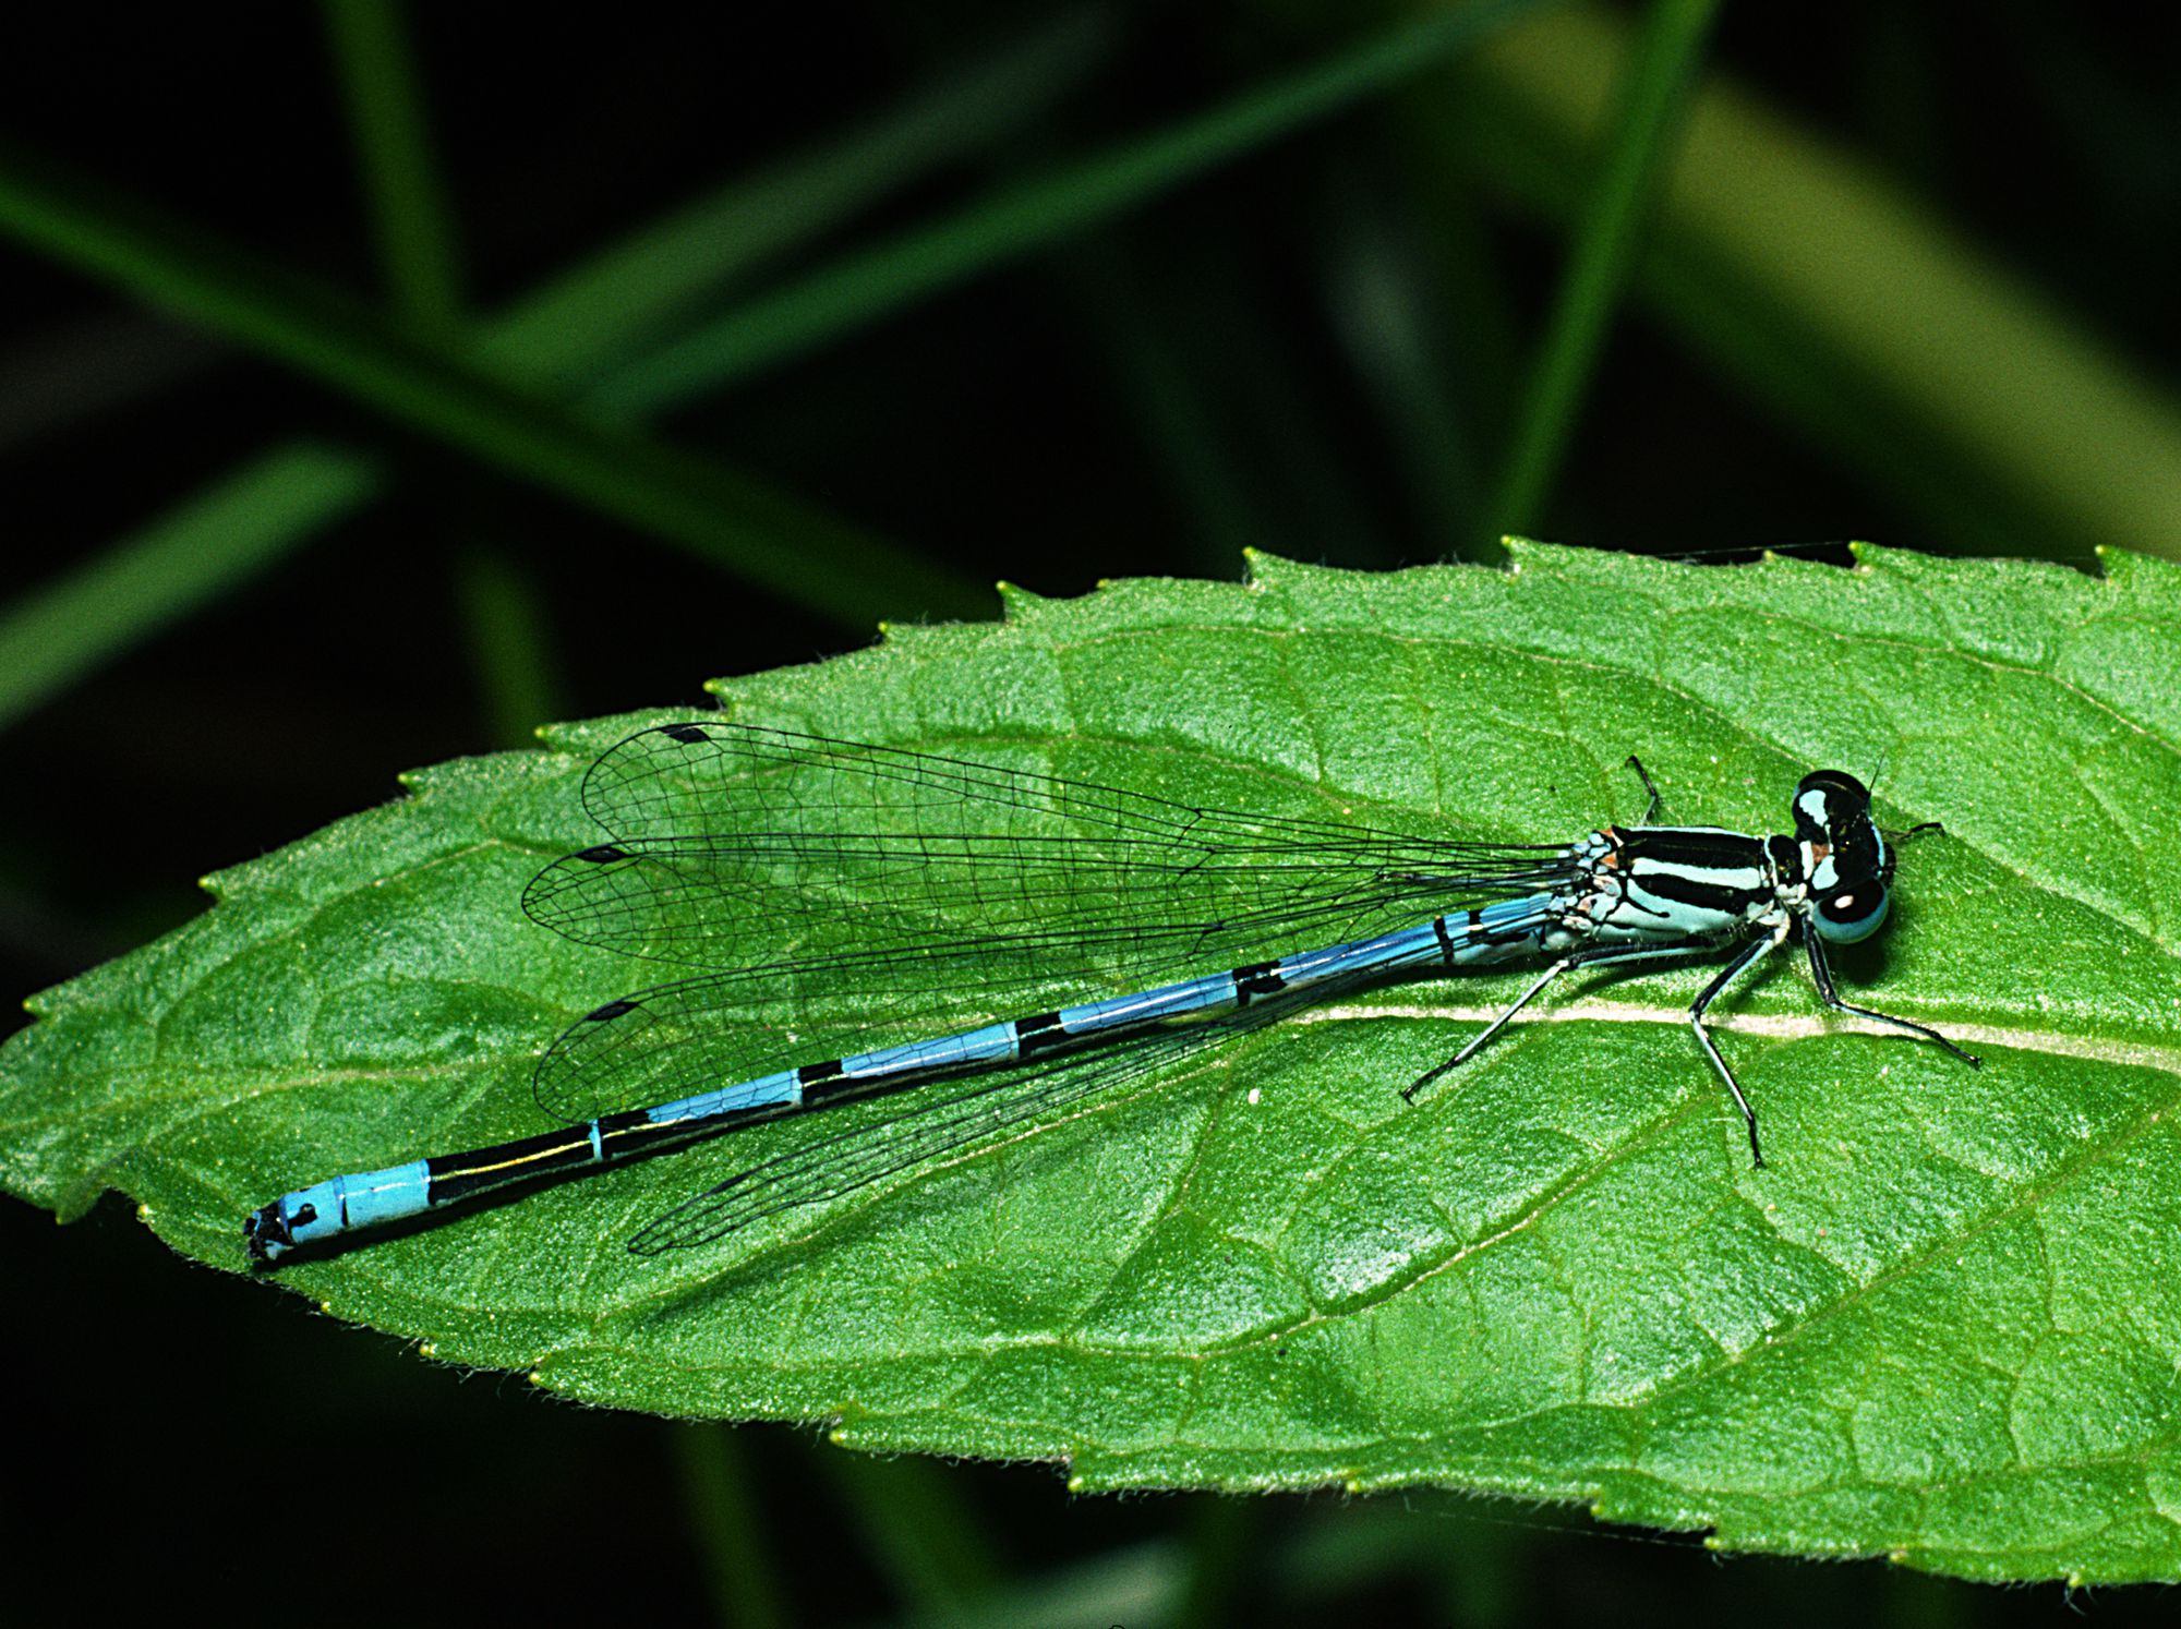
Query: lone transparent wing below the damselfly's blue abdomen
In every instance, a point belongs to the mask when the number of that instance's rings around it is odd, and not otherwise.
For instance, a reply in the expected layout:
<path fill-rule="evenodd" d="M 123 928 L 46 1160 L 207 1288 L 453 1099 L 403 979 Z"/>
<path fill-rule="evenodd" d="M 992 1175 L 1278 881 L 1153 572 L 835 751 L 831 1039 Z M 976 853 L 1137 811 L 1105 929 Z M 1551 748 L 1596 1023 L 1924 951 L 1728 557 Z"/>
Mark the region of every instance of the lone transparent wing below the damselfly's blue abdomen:
<path fill-rule="evenodd" d="M 1309 997 L 1252 1003 L 1149 1038 L 1114 1040 L 1069 1058 L 981 1075 L 966 1090 L 903 1108 L 883 1121 L 820 1136 L 737 1171 L 646 1226 L 628 1241 L 628 1250 L 656 1256 L 707 1245 L 781 1210 L 838 1199 L 896 1171 L 990 1143 L 1010 1130 L 1051 1123 L 1075 1103 L 1176 1069 L 1186 1058 L 1365 981 L 1335 979 Z"/>

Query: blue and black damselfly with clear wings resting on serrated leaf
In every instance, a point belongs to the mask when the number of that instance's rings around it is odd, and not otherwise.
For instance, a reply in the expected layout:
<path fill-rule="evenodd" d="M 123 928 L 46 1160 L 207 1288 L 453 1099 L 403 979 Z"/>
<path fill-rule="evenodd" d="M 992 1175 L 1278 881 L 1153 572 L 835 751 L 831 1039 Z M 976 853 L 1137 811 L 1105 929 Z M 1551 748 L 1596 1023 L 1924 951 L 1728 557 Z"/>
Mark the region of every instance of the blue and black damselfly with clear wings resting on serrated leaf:
<path fill-rule="evenodd" d="M 744 724 L 643 731 L 585 779 L 611 842 L 541 870 L 523 909 L 585 944 L 718 970 L 608 1001 L 545 1051 L 537 1099 L 563 1130 L 288 1193 L 249 1219 L 249 1252 L 273 1260 L 515 1182 L 973 1077 L 739 1169 L 630 1241 L 698 1245 L 1032 1127 L 1359 984 L 1525 955 L 1549 964 L 1407 1097 L 1564 973 L 1732 951 L 1688 1021 L 1762 1165 L 1756 1110 L 1706 1014 L 1797 929 L 1828 1007 L 1976 1062 L 1834 990 L 1825 946 L 1876 933 L 1893 883 L 1863 783 L 1804 776 L 1793 835 L 1751 837 L 1651 824 L 1658 789 L 1629 765 L 1651 794 L 1640 824 L 1487 844 Z M 744 960 L 752 927 L 779 960 Z M 905 1040 L 820 1049 L 888 1031 Z"/>

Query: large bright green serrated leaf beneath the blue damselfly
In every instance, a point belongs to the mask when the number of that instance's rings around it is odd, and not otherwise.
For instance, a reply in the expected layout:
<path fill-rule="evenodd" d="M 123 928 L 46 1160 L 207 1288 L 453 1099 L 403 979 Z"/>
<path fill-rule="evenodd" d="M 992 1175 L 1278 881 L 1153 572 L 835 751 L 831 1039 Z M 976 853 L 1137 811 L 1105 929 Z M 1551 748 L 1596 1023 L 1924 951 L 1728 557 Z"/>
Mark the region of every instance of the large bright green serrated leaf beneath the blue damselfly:
<path fill-rule="evenodd" d="M 1461 975 L 709 1250 L 622 1241 L 809 1121 L 277 1278 L 574 1398 L 1095 1489 L 1439 1483 L 1727 1548 L 2181 1577 L 2181 571 L 1511 558 L 1014 593 L 999 626 L 715 689 L 742 720 L 1481 837 L 1636 818 L 1631 750 L 1671 818 L 1749 831 L 1841 765 L 1887 824 L 1945 822 L 1841 957 L 1852 999 L 1983 1071 L 1832 1021 L 1780 957 L 1719 1025 L 1764 1171 L 1684 1025 L 1701 970 L 1596 979 L 1409 1108 L 1522 977 Z M 661 717 L 410 776 L 39 997 L 0 1051 L 9 1186 L 63 1217 L 122 1188 L 240 1271 L 284 1188 L 539 1130 L 539 1047 L 659 975 L 515 898 L 595 840 L 589 757 Z"/>

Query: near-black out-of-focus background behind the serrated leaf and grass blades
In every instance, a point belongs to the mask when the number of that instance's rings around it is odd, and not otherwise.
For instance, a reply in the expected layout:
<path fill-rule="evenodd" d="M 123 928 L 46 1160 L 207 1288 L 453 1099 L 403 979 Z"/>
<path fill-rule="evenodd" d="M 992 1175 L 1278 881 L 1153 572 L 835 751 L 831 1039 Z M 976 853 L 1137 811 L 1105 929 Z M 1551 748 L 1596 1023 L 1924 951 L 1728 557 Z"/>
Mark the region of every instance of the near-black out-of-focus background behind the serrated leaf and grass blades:
<path fill-rule="evenodd" d="M 2174 24 L 2059 0 L 1773 13 L 1719 22 L 1706 83 L 1749 98 L 1771 120 L 1760 135 L 1828 142 L 1965 286 L 2028 290 L 2046 338 L 2085 336 L 2116 395 L 2142 390 L 2172 417 Z M 2024 497 L 2039 471 L 2002 458 L 1976 414 L 1908 401 L 1821 301 L 1773 294 L 1762 321 L 1727 321 L 1730 294 L 1767 286 L 1760 246 L 1706 244 L 1714 281 L 1655 275 L 1671 214 L 1629 246 L 1627 279 L 1601 286 L 1610 321 L 1559 414 L 1557 478 L 1507 512 L 1498 471 L 1525 434 L 1596 164 L 1525 131 L 1477 63 L 1411 74 L 1106 218 L 1067 185 L 1084 159 L 1409 15 L 1280 0 L 11 15 L 0 990 L 188 920 L 203 907 L 192 879 L 393 796 L 406 765 L 517 746 L 547 715 L 694 707 L 709 676 L 853 650 L 879 615 L 990 615 L 979 584 L 1001 576 L 1073 595 L 1134 574 L 1234 578 L 1245 545 L 1357 567 L 1492 558 L 1501 530 L 1673 554 L 1860 536 L 2081 565 L 2122 530 L 2126 480 L 2111 512 Z M 1634 35 L 1651 13 L 1579 15 Z M 390 55 L 371 57 L 373 41 Z M 388 353 L 465 358 L 484 314 L 687 201 L 853 142 L 949 74 L 1025 59 L 1043 65 L 1016 74 L 1012 116 L 792 233 L 659 318 L 648 345 L 1008 188 L 1058 177 L 1073 225 L 615 432 L 968 584 L 883 604 L 800 567 L 794 526 L 752 580 L 746 560 L 480 456 L 246 321 L 155 314 L 181 297 L 142 257 L 26 227 L 20 203 L 28 188 L 137 222 L 220 266 L 244 305 L 286 299 L 299 275 L 305 307 L 332 290 L 366 323 L 399 323 Z M 351 83 L 419 96 L 445 212 L 434 227 L 412 209 L 427 246 L 406 277 L 386 268 Z M 790 220 L 805 192 L 790 192 Z M 1841 220 L 1843 242 L 1882 246 L 1889 231 L 1869 212 Z M 1983 382 L 1965 390 L 2004 388 L 2024 423 L 2050 419 L 2055 467 L 2076 456 L 2065 430 L 2113 441 L 2083 430 L 2096 403 L 2033 366 L 2007 377 L 2020 358 L 1993 355 L 1998 329 L 1926 270 L 1904 255 L 1902 310 L 1959 327 L 1948 342 Z M 318 331 L 369 349 L 351 316 L 334 299 Z M 556 403 L 558 386 L 537 399 Z M 373 451 L 379 493 L 262 563 L 209 563 L 190 589 L 100 576 L 294 436 Z M 2129 541 L 2172 556 L 2170 519 Z M 57 598 L 70 593 L 85 600 Z M 76 606 L 59 628 L 79 656 L 65 672 L 26 654 L 26 617 L 52 604 Z M 111 604 L 124 630 L 85 604 Z M 517 1378 L 434 1367 L 177 1260 L 118 1197 L 65 1232 L 11 1202 L 0 1230 L 22 1413 L 0 1553 L 15 1550 L 4 1588 L 22 1620 L 179 1598 L 229 1622 L 766 1622 L 768 1603 L 787 1622 L 977 1607 L 1130 1625 L 2170 1609 L 2150 1592 L 2063 1601 L 2057 1585 L 1976 1590 L 1882 1564 L 1716 1559 L 1697 1540 L 1435 1494 L 1071 1498 L 1049 1468 L 864 1461 L 809 1428 L 587 1413 Z"/>

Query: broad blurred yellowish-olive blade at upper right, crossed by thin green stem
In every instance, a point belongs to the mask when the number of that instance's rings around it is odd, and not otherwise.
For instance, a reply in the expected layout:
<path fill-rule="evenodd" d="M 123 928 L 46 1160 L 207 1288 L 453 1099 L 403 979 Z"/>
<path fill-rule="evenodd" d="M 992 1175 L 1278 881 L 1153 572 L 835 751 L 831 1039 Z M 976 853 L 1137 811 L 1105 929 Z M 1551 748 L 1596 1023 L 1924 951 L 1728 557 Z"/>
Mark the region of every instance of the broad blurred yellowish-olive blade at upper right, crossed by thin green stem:
<path fill-rule="evenodd" d="M 1433 129 L 1568 220 L 1629 31 L 1559 7 L 1466 59 Z M 1651 314 L 1978 554 L 2181 556 L 2181 408 L 1854 153 L 1699 89 L 1638 262 Z"/>

